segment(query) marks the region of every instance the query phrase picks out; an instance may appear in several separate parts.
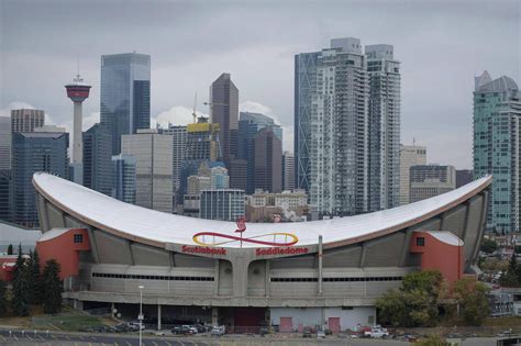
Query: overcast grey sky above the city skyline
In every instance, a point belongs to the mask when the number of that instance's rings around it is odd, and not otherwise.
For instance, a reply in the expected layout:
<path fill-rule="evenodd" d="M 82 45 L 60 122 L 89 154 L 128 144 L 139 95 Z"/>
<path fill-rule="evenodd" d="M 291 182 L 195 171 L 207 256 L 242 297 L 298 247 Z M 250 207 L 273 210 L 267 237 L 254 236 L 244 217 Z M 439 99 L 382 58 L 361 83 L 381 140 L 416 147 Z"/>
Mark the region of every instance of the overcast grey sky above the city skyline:
<path fill-rule="evenodd" d="M 395 46 L 402 63 L 401 138 L 428 160 L 472 167 L 474 76 L 521 82 L 520 1 L 8 1 L 0 0 L 0 115 L 43 109 L 70 126 L 64 85 L 77 69 L 92 85 L 84 130 L 99 118 L 100 56 L 152 56 L 152 116 L 208 113 L 209 86 L 231 72 L 243 110 L 285 127 L 292 149 L 293 55 L 333 37 Z"/>

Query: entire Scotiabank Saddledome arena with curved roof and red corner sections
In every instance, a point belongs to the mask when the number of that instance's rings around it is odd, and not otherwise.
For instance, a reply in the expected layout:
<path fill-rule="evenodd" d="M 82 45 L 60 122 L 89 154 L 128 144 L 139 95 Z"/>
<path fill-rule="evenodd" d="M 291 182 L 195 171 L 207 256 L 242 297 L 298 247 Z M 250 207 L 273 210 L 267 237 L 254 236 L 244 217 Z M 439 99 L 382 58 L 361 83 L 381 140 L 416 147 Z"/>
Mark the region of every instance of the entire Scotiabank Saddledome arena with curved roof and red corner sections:
<path fill-rule="evenodd" d="M 376 323 L 375 299 L 403 276 L 434 268 L 473 274 L 491 178 L 408 205 L 332 220 L 248 223 L 167 214 L 62 178 L 33 177 L 43 259 L 62 265 L 77 309 L 145 321 L 306 326 L 333 332 Z M 114 310 L 115 309 L 115 310 Z"/>

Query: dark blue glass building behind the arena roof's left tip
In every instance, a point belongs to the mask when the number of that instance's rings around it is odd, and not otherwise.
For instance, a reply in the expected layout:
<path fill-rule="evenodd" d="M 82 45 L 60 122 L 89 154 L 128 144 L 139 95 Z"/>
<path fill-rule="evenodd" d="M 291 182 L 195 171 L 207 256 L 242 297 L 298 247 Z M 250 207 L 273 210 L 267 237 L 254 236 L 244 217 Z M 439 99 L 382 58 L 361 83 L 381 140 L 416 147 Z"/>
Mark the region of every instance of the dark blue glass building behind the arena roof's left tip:
<path fill-rule="evenodd" d="M 13 221 L 27 227 L 37 227 L 38 216 L 36 194 L 32 183 L 33 175 L 36 171 L 46 171 L 67 179 L 68 134 L 55 132 L 13 133 L 12 145 Z"/>

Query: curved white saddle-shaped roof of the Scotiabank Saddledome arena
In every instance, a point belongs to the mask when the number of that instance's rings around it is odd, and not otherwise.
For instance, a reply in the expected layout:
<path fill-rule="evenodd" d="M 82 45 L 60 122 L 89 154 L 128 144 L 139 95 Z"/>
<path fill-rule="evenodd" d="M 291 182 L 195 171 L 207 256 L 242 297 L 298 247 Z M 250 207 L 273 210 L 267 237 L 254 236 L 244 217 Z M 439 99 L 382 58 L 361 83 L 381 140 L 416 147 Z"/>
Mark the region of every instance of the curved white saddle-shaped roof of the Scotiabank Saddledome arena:
<path fill-rule="evenodd" d="M 247 223 L 244 237 L 287 232 L 299 238 L 297 246 L 317 244 L 319 235 L 323 236 L 325 247 L 356 243 L 426 220 L 467 200 L 490 182 L 491 177 L 485 177 L 428 200 L 356 216 L 298 223 Z M 37 172 L 33 183 L 46 199 L 73 216 L 126 238 L 162 246 L 166 243 L 196 245 L 192 236 L 199 232 L 239 235 L 234 233 L 234 222 L 180 216 L 128 204 L 53 175 Z M 239 247 L 240 244 L 232 242 L 223 246 Z M 243 247 L 259 246 L 263 245 L 243 244 Z"/>

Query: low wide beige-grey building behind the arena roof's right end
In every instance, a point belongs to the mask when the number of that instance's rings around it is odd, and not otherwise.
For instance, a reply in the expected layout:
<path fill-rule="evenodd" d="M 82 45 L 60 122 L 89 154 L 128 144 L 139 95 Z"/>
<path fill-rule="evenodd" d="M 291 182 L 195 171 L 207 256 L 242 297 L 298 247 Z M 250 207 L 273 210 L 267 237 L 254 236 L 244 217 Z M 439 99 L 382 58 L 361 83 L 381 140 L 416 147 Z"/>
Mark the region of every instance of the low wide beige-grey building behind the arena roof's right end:
<path fill-rule="evenodd" d="M 456 188 L 454 166 L 418 165 L 410 167 L 410 203 L 435 197 Z"/>

